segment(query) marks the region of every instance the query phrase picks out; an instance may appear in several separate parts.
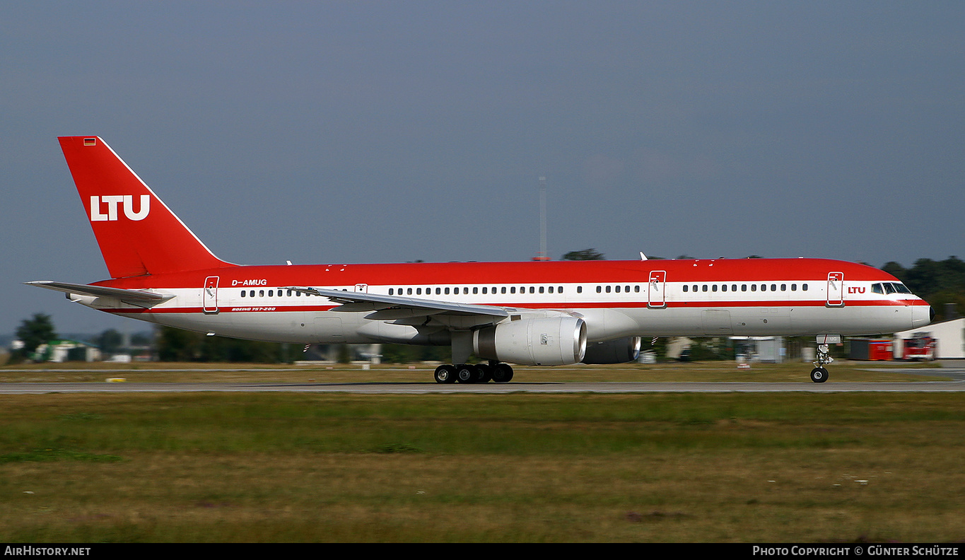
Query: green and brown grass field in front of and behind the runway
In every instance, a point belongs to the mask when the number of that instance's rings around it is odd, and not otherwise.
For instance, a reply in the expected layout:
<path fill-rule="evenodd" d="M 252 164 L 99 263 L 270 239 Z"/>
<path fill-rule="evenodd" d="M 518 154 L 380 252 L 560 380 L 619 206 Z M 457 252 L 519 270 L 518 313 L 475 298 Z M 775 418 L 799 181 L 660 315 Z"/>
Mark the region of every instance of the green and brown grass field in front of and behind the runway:
<path fill-rule="evenodd" d="M 960 541 L 963 420 L 965 395 L 930 393 L 0 396 L 0 541 Z"/>

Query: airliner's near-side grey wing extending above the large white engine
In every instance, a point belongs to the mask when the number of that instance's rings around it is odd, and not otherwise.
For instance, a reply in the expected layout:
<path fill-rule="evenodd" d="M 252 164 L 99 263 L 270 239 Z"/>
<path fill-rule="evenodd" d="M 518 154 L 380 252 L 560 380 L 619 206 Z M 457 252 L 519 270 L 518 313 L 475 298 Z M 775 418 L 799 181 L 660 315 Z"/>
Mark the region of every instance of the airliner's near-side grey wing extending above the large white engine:
<path fill-rule="evenodd" d="M 302 294 L 321 295 L 332 301 L 342 303 L 333 311 L 375 311 L 400 312 L 409 311 L 408 315 L 484 315 L 488 317 L 509 317 L 510 312 L 502 307 L 492 305 L 475 305 L 471 303 L 454 303 L 452 301 L 437 301 L 434 299 L 416 299 L 399 295 L 366 294 L 364 292 L 343 292 L 326 288 L 290 287 L 285 290 L 298 291 Z M 385 313 L 388 316 L 391 313 Z M 374 318 L 372 318 L 374 319 Z"/>

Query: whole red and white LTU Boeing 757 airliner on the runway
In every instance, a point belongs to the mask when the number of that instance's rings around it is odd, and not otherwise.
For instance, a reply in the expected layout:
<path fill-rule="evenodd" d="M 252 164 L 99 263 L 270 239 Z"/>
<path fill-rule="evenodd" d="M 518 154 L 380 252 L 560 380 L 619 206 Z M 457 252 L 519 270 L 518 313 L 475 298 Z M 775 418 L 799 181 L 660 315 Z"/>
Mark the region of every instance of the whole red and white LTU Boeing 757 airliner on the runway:
<path fill-rule="evenodd" d="M 827 345 L 841 336 L 933 317 L 891 274 L 825 259 L 239 266 L 215 257 L 102 139 L 60 144 L 111 278 L 27 284 L 211 335 L 450 346 L 440 383 L 509 381 L 510 363 L 628 362 L 641 337 L 772 335 L 815 336 L 811 378 L 823 382 Z"/>

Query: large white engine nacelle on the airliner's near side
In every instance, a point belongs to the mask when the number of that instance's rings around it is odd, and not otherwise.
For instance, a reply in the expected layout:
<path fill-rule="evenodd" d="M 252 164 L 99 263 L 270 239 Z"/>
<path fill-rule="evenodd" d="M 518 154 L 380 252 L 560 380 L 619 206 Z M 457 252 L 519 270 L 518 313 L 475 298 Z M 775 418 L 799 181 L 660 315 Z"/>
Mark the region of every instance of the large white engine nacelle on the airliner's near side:
<path fill-rule="evenodd" d="M 501 322 L 473 333 L 473 353 L 527 366 L 579 363 L 587 350 L 587 323 L 575 317 Z"/>

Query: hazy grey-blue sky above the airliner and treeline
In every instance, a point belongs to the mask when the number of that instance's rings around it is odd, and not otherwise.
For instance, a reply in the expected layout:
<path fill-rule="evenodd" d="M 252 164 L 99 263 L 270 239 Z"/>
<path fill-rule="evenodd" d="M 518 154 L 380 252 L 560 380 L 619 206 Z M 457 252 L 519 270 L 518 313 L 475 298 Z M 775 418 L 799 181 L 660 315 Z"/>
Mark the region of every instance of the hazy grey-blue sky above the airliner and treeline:
<path fill-rule="evenodd" d="M 138 330 L 56 136 L 245 264 L 965 255 L 961 2 L 0 7 L 0 332 Z"/>

